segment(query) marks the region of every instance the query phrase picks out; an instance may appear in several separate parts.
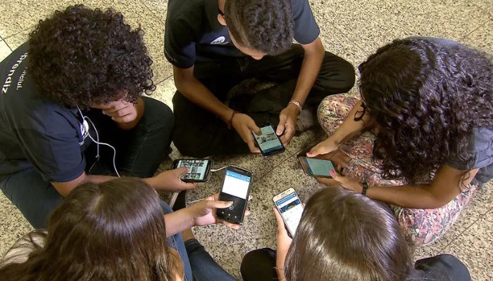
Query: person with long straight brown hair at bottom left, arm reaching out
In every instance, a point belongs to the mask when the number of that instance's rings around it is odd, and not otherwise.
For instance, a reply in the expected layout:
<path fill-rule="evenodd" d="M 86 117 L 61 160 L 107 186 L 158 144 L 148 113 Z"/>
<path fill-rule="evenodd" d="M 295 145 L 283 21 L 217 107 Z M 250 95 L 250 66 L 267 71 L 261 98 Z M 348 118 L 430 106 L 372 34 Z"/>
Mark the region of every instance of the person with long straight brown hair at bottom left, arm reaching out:
<path fill-rule="evenodd" d="M 84 183 L 51 214 L 46 230 L 7 251 L 1 280 L 233 281 L 193 236 L 184 242 L 173 235 L 177 224 L 218 223 L 215 209 L 232 202 L 216 200 L 163 216 L 158 193 L 138 178 Z"/>

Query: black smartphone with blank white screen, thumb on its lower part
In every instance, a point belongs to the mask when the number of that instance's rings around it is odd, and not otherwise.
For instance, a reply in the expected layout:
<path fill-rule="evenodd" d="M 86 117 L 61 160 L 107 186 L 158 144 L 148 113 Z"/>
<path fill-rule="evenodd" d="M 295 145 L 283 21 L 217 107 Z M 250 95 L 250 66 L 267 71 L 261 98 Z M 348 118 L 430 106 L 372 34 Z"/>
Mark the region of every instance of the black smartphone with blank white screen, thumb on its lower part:
<path fill-rule="evenodd" d="M 233 204 L 225 209 L 217 209 L 218 218 L 230 223 L 242 223 L 253 176 L 254 173 L 249 170 L 237 166 L 226 167 L 219 200 L 232 201 Z"/>

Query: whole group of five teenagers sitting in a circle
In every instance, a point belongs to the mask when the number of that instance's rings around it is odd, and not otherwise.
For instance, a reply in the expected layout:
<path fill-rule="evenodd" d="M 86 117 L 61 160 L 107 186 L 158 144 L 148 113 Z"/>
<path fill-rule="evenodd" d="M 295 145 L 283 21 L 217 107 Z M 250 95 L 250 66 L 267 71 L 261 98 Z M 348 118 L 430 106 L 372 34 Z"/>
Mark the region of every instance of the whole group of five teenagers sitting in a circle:
<path fill-rule="evenodd" d="M 411 257 L 493 177 L 489 55 L 397 39 L 358 66 L 357 97 L 307 0 L 169 0 L 172 112 L 143 96 L 156 89 L 143 35 L 113 9 L 69 6 L 1 62 L 0 188 L 36 228 L 2 280 L 235 280 L 192 233 L 239 228 L 216 216 L 232 202 L 173 211 L 158 191 L 196 183 L 156 171 L 172 141 L 195 158 L 259 152 L 259 124 L 284 145 L 320 124 L 328 138 L 306 156 L 338 172 L 317 178 L 294 237 L 274 210 L 276 249 L 247 253 L 244 280 L 470 280 L 454 256 Z"/>

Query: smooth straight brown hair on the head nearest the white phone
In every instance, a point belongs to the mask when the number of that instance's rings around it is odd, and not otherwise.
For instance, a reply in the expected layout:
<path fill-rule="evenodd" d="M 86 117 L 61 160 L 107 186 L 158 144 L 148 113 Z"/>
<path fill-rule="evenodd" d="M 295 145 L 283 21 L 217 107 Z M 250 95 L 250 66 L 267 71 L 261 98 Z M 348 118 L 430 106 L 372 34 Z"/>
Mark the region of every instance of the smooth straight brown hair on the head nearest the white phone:
<path fill-rule="evenodd" d="M 308 200 L 285 261 L 289 281 L 402 281 L 411 257 L 381 203 L 342 188 Z"/>

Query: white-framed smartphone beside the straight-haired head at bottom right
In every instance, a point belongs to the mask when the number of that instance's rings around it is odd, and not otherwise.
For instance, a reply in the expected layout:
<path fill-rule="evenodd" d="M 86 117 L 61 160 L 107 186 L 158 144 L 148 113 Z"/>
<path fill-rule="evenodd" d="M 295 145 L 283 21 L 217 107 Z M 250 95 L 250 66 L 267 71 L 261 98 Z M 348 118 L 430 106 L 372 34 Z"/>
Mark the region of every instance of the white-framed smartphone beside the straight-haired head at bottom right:
<path fill-rule="evenodd" d="M 289 188 L 275 195 L 273 201 L 277 211 L 282 216 L 289 235 L 294 237 L 304 210 L 296 191 L 294 188 Z"/>

